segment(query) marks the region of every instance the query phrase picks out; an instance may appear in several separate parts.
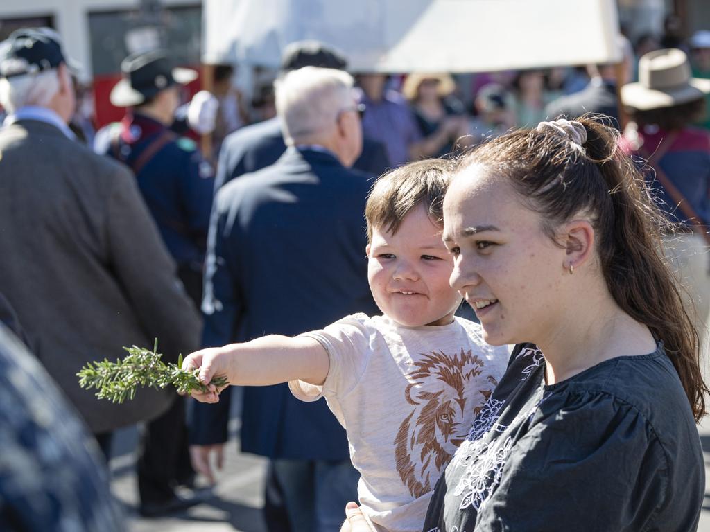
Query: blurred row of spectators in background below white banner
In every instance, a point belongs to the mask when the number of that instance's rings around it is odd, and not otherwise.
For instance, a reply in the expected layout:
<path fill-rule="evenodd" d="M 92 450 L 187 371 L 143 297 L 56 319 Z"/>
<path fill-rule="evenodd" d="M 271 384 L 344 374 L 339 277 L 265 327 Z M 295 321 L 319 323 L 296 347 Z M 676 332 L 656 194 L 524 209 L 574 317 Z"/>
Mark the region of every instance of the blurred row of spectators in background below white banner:
<path fill-rule="evenodd" d="M 689 56 L 694 77 L 710 77 L 710 31 L 697 31 L 684 38 L 677 16 L 667 16 L 665 32 L 660 35 L 643 33 L 632 43 L 622 33 L 618 45 L 623 68 L 577 65 L 475 74 L 351 73 L 361 92 L 361 102 L 369 109 L 363 123 L 366 136 L 385 145 L 387 167 L 396 167 L 421 157 L 467 148 L 509 128 L 532 127 L 565 112 L 599 112 L 614 118 L 618 125 L 616 84 L 638 81 L 638 60 L 654 50 L 679 48 Z M 181 131 L 191 131 L 195 138 L 209 131 L 211 148 L 204 155 L 212 161 L 217 161 L 226 135 L 276 115 L 273 79 L 278 72 L 256 67 L 253 87 L 245 91 L 239 87 L 238 68 L 239 65 L 212 66 L 210 92 L 214 101 L 209 105 L 214 105 L 214 111 L 203 118 L 206 126 L 195 120 L 192 130 Z M 92 144 L 95 118 L 91 87 L 76 79 L 75 87 L 77 110 L 70 126 L 80 139 Z M 570 97 L 575 94 L 576 98 Z M 187 98 L 185 92 L 182 99 Z M 183 104 L 176 116 L 185 118 L 187 109 L 187 103 Z M 710 128 L 706 113 L 695 122 Z M 383 127 L 385 124 L 389 127 Z"/>

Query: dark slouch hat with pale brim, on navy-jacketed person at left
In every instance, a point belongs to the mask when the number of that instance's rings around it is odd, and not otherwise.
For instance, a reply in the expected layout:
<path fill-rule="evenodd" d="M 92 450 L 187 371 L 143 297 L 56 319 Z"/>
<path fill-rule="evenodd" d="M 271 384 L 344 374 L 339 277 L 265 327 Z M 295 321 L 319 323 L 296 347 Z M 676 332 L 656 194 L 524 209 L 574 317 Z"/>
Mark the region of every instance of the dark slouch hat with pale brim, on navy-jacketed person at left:
<path fill-rule="evenodd" d="M 109 100 L 116 107 L 133 107 L 175 84 L 197 79 L 197 71 L 172 68 L 165 52 L 156 50 L 129 55 L 121 62 L 123 78 L 111 89 Z"/>

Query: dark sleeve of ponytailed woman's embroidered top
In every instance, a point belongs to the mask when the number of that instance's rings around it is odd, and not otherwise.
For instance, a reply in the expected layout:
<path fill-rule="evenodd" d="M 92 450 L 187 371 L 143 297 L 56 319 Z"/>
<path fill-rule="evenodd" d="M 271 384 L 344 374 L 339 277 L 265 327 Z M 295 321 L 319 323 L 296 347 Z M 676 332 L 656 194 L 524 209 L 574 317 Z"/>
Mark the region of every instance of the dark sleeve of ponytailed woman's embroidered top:
<path fill-rule="evenodd" d="M 531 420 L 479 509 L 476 531 L 648 529 L 669 477 L 652 427 L 606 395 L 583 392 L 568 403 Z"/>

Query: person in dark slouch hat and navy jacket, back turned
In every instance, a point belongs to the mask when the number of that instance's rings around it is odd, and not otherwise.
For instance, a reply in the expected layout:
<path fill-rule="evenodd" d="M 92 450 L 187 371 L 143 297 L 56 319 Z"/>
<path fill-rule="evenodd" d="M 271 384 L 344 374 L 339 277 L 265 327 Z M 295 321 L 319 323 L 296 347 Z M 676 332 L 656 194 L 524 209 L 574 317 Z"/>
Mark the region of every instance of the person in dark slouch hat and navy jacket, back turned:
<path fill-rule="evenodd" d="M 214 172 L 193 140 L 170 129 L 182 86 L 197 79 L 197 72 L 173 67 L 161 50 L 129 55 L 121 63 L 121 72 L 110 99 L 111 104 L 127 108 L 126 115 L 97 135 L 94 149 L 133 170 L 163 241 L 178 263 L 178 276 L 199 309 Z M 163 453 L 145 455 L 146 460 L 138 463 L 143 472 L 138 478 L 142 499 L 160 499 L 165 477 L 189 484 L 194 473 L 187 450 L 185 401 L 175 401 L 160 424 L 148 428 L 146 437 L 155 440 L 151 448 L 168 447 L 174 453 L 170 463 Z"/>

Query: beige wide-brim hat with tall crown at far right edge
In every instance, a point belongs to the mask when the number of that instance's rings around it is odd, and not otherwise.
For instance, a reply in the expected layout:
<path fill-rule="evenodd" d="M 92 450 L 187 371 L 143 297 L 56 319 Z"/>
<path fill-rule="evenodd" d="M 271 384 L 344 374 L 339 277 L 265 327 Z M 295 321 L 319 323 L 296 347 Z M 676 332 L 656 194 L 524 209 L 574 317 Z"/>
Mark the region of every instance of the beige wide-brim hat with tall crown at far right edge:
<path fill-rule="evenodd" d="M 683 50 L 667 48 L 643 55 L 638 82 L 621 87 L 621 101 L 638 111 L 686 104 L 710 93 L 710 79 L 692 77 Z"/>

